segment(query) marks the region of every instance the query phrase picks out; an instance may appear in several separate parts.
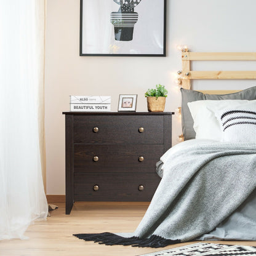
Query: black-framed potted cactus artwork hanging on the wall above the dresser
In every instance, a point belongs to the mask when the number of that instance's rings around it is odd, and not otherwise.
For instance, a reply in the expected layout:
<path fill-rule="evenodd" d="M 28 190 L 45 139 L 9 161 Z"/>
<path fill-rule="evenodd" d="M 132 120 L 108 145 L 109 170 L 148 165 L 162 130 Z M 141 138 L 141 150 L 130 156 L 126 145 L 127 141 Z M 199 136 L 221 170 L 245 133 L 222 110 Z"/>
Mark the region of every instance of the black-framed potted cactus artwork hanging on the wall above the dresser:
<path fill-rule="evenodd" d="M 80 56 L 166 56 L 166 0 L 80 0 Z"/>

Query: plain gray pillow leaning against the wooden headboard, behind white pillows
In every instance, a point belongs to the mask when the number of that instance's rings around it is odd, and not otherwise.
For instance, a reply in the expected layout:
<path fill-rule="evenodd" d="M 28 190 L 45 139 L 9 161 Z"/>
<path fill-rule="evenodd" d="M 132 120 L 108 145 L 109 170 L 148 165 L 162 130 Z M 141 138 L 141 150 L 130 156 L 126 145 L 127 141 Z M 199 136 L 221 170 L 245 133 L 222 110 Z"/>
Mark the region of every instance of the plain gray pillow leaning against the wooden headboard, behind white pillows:
<path fill-rule="evenodd" d="M 188 108 L 188 102 L 196 100 L 256 100 L 256 86 L 250 87 L 234 94 L 203 94 L 196 90 L 187 90 L 181 88 L 182 92 L 182 133 L 184 140 L 191 140 L 196 137 L 193 125 L 194 121 Z"/>

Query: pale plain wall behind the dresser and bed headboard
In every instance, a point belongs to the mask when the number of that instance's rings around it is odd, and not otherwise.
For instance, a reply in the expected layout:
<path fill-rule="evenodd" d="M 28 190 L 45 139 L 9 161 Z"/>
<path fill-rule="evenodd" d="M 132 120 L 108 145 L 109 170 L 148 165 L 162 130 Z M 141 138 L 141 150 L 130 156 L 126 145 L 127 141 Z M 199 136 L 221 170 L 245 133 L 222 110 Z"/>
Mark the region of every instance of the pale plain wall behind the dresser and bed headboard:
<path fill-rule="evenodd" d="M 105 1 L 105 0 L 103 0 Z M 156 1 L 156 0 L 154 0 Z M 180 106 L 174 74 L 182 67 L 178 45 L 198 52 L 255 52 L 255 0 L 167 0 L 167 57 L 79 57 L 79 0 L 47 1 L 46 161 L 47 194 L 65 194 L 65 116 L 69 95 L 138 94 L 137 111 L 147 111 L 145 91 L 155 84 L 169 90 L 166 111 Z M 193 65 L 194 69 L 256 70 L 256 63 Z M 116 71 L 118 68 L 118 72 Z M 123 68 L 120 68 L 123 67 Z M 254 81 L 195 82 L 194 89 L 243 89 Z M 173 118 L 173 144 L 181 133 Z"/>

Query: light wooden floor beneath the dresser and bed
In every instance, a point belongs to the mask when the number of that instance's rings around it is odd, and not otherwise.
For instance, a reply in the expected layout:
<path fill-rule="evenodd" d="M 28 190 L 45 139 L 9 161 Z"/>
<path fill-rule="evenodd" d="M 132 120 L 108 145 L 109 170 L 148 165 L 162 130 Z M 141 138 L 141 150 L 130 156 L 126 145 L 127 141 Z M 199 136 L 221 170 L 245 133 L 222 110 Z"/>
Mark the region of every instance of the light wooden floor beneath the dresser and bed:
<path fill-rule="evenodd" d="M 55 203 L 57 204 L 57 203 Z M 72 236 L 75 233 L 132 232 L 143 217 L 148 203 L 76 203 L 70 215 L 65 215 L 65 204 L 57 204 L 47 221 L 31 225 L 25 235 L 29 240 L 0 241 L 1 256 L 135 256 L 184 246 L 193 242 L 167 246 L 163 249 L 131 246 L 105 246 L 85 242 Z M 256 242 L 220 242 L 256 246 Z"/>

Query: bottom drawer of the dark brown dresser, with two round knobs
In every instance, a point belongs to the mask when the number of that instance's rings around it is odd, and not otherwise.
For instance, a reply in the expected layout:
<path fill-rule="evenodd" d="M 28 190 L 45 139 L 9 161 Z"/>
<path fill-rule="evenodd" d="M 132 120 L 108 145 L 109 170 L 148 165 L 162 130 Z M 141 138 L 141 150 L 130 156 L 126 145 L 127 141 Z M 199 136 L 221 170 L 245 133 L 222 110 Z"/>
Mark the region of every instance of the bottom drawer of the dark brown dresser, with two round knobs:
<path fill-rule="evenodd" d="M 75 173 L 74 201 L 148 202 L 160 180 L 157 174 Z"/>

